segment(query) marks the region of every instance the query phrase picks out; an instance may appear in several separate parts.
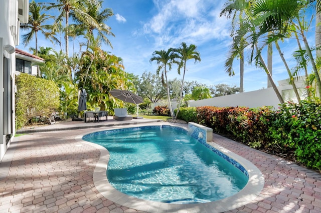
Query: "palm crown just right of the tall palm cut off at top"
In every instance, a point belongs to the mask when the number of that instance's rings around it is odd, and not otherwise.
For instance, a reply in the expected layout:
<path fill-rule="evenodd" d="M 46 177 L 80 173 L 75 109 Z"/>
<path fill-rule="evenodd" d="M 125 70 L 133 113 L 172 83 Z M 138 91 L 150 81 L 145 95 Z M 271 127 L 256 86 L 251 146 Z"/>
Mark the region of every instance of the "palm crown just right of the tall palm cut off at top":
<path fill-rule="evenodd" d="M 113 15 L 113 12 L 110 8 L 105 8 L 103 11 L 99 12 L 101 3 L 102 1 L 99 1 L 99 5 L 86 5 L 82 12 L 73 14 L 73 19 L 78 23 L 78 27 L 81 30 L 86 29 L 88 34 L 93 34 L 93 30 L 96 29 L 99 38 L 112 47 L 107 35 L 115 35 L 110 31 L 111 28 L 105 24 L 105 21 Z"/>

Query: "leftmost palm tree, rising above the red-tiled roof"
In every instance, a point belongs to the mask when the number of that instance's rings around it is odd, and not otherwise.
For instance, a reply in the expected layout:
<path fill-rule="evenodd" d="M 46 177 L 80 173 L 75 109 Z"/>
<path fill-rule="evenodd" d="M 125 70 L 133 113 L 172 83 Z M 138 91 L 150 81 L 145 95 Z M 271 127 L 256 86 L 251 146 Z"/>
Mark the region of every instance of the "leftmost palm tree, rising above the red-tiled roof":
<path fill-rule="evenodd" d="M 30 29 L 30 32 L 23 35 L 23 43 L 27 45 L 35 35 L 35 54 L 38 55 L 38 31 L 42 32 L 47 38 L 51 39 L 52 41 L 58 41 L 52 33 L 49 31 L 45 31 L 46 29 L 50 29 L 51 25 L 44 24 L 48 19 L 54 18 L 51 15 L 42 13 L 42 10 L 44 9 L 44 6 L 41 4 L 38 4 L 33 0 L 29 4 L 29 12 L 31 13 L 29 15 L 29 21 L 28 23 L 21 23 L 20 27 L 22 29 L 28 30 Z"/>

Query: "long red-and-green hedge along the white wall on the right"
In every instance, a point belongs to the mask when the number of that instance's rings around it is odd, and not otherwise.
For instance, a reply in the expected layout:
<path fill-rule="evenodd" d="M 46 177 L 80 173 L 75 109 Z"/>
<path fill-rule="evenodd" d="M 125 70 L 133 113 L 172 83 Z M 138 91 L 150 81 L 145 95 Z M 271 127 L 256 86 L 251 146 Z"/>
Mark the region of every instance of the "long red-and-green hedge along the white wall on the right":
<path fill-rule="evenodd" d="M 251 147 L 321 170 L 321 104 L 303 100 L 271 107 L 185 107 L 179 119 L 213 128 Z"/>

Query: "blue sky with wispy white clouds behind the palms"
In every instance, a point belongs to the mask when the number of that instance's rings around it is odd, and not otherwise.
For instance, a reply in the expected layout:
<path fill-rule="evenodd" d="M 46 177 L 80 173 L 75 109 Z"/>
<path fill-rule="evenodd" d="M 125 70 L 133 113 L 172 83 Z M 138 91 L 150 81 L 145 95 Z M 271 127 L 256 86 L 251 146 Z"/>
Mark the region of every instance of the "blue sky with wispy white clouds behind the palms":
<path fill-rule="evenodd" d="M 224 2 L 225 0 L 104 0 L 103 8 L 109 7 L 114 12 L 106 24 L 111 27 L 115 37 L 109 37 L 113 48 L 103 44 L 102 49 L 121 57 L 125 71 L 140 76 L 144 71 L 156 71 L 156 62 L 149 62 L 153 51 L 179 47 L 181 42 L 188 45 L 193 43 L 198 46 L 201 62 L 195 64 L 190 60 L 187 63 L 185 80 L 196 80 L 209 86 L 219 83 L 239 86 L 239 62 L 235 60 L 235 75 L 232 77 L 224 68 L 231 42 L 231 20 L 219 16 Z M 44 38 L 40 39 L 43 39 L 39 42 L 41 46 L 52 46 Z M 285 41 L 281 46 L 286 58 L 290 58 L 290 52 L 296 48 L 289 42 Z M 310 42 L 314 44 L 313 40 Z M 29 45 L 34 46 L 34 43 Z M 22 44 L 18 48 L 28 51 L 28 46 Z M 69 48 L 72 50 L 72 43 Z M 287 78 L 287 73 L 275 49 L 273 55 L 273 79 L 277 84 L 277 80 Z M 267 76 L 263 70 L 248 65 L 244 69 L 245 91 L 267 87 Z M 175 66 L 168 76 L 169 79 L 181 79 Z"/>

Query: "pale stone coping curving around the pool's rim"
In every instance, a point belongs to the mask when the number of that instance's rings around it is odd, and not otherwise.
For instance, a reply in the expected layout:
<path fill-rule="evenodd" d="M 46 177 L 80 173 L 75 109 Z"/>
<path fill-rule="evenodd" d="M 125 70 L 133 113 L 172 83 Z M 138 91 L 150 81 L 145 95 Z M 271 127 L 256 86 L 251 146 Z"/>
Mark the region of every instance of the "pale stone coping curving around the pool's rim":
<path fill-rule="evenodd" d="M 148 126 L 150 125 L 161 126 L 162 124 L 160 123 L 148 124 Z M 175 124 L 171 124 L 171 125 L 176 126 Z M 146 126 L 146 124 L 138 124 L 135 126 Z M 179 127 L 187 129 L 186 127 L 182 127 L 182 126 L 179 126 Z M 114 126 L 109 128 L 95 129 L 91 132 L 87 132 L 86 134 L 93 133 L 96 131 L 119 129 L 119 128 L 124 128 L 124 127 Z M 218 149 L 225 155 L 233 158 L 247 170 L 249 175 L 249 180 L 247 184 L 244 186 L 244 188 L 242 188 L 238 193 L 220 200 L 215 200 L 215 201 L 206 202 L 206 203 L 177 204 L 177 203 L 164 203 L 164 202 L 156 202 L 156 201 L 139 199 L 118 191 L 109 183 L 107 179 L 107 174 L 106 174 L 108 160 L 110 156 L 109 151 L 101 145 L 82 140 L 82 137 L 84 135 L 85 134 L 77 135 L 75 139 L 82 143 L 90 144 L 96 147 L 97 149 L 99 149 L 100 151 L 100 157 L 98 159 L 98 162 L 95 166 L 94 173 L 93 173 L 93 181 L 94 181 L 95 187 L 105 198 L 129 208 L 134 208 L 137 210 L 147 211 L 147 212 L 168 212 L 168 211 L 181 211 L 181 210 L 184 210 L 185 212 L 209 212 L 209 213 L 223 212 L 223 211 L 228 211 L 228 210 L 238 208 L 240 206 L 243 206 L 251 202 L 260 194 L 261 190 L 264 187 L 264 182 L 265 182 L 264 176 L 253 163 L 251 163 L 249 160 L 233 153 L 232 151 L 212 141 L 212 142 L 208 142 L 208 144 Z"/>

